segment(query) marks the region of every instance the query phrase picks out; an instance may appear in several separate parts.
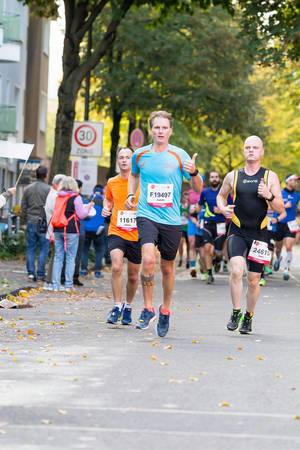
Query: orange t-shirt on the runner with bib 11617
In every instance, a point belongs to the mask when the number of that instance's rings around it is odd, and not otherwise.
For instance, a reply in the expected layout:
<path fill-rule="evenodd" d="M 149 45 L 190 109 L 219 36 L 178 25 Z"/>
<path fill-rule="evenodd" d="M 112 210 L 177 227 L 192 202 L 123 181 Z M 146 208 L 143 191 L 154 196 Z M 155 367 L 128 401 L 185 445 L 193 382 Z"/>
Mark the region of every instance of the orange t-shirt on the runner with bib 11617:
<path fill-rule="evenodd" d="M 108 235 L 115 234 L 127 241 L 138 241 L 138 231 L 124 230 L 117 226 L 118 211 L 126 211 L 125 202 L 128 195 L 128 180 L 124 180 L 120 175 L 110 178 L 105 188 L 105 198 L 109 202 L 113 202 L 112 214 L 110 216 L 110 225 Z M 136 201 L 139 196 L 139 189 L 136 193 Z M 131 210 L 132 211 L 132 210 Z"/>

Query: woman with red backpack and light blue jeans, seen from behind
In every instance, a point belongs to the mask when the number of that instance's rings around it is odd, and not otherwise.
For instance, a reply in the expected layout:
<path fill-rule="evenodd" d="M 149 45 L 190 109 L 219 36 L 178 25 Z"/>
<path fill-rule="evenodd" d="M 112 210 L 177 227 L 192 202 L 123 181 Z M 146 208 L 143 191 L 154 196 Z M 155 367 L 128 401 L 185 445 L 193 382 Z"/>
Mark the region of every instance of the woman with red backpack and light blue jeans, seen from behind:
<path fill-rule="evenodd" d="M 54 291 L 71 291 L 77 253 L 80 220 L 85 219 L 94 205 L 84 205 L 74 178 L 65 177 L 59 186 L 51 224 L 54 231 L 54 264 L 52 284 Z M 66 259 L 65 286 L 61 286 L 61 272 Z"/>

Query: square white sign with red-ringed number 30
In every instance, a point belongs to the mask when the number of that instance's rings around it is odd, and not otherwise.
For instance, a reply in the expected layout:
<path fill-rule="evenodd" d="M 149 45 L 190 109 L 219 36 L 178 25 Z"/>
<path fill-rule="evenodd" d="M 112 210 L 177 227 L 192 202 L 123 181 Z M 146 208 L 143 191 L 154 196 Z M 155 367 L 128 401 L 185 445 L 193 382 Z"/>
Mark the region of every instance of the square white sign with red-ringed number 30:
<path fill-rule="evenodd" d="M 102 156 L 103 123 L 75 122 L 72 136 L 71 156 L 98 158 Z"/>

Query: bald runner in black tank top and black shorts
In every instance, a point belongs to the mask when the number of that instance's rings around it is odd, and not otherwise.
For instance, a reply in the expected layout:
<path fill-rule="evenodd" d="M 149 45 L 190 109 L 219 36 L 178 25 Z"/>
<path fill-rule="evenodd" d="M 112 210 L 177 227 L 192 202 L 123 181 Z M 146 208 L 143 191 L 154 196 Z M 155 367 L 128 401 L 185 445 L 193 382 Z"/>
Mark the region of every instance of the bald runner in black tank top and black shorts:
<path fill-rule="evenodd" d="M 259 297 L 259 281 L 264 263 L 270 255 L 267 238 L 267 210 L 284 211 L 280 183 L 276 173 L 261 166 L 263 142 L 250 136 L 244 143 L 245 167 L 233 170 L 224 178 L 217 197 L 222 214 L 231 219 L 227 248 L 230 259 L 230 290 L 233 312 L 227 329 L 241 334 L 252 331 L 252 317 Z M 227 204 L 232 194 L 233 205 Z M 243 316 L 241 299 L 243 273 L 248 266 L 247 309 Z M 241 322 L 241 325 L 240 325 Z M 240 325 L 240 327 L 239 327 Z"/>

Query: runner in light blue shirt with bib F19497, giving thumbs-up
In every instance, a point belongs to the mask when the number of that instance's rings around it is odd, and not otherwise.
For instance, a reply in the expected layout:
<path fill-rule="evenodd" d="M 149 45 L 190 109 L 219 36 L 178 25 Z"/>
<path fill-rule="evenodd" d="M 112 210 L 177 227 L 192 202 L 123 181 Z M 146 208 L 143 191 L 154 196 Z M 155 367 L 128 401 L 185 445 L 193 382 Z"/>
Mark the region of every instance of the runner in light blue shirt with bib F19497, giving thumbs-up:
<path fill-rule="evenodd" d="M 163 305 L 159 308 L 157 333 L 163 337 L 169 329 L 170 304 L 174 285 L 174 261 L 181 239 L 180 199 L 183 177 L 200 192 L 202 179 L 193 158 L 181 148 L 169 144 L 173 119 L 166 111 L 150 116 L 153 143 L 137 150 L 132 156 L 128 180 L 127 208 L 135 205 L 135 193 L 140 185 L 137 209 L 139 240 L 142 246 L 141 282 L 144 309 L 136 325 L 146 329 L 156 316 L 153 308 L 155 246 L 161 254 Z"/>

